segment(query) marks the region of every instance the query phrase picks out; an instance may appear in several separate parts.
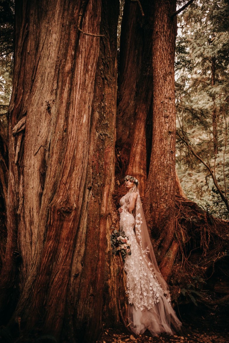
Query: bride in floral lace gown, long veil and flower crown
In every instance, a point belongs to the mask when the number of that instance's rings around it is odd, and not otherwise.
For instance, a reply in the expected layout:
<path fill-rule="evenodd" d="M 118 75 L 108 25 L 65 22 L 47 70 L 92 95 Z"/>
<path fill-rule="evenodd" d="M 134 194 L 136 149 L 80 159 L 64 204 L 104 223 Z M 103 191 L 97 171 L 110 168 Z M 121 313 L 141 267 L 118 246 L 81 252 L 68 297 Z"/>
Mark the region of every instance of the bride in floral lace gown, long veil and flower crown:
<path fill-rule="evenodd" d="M 136 334 L 146 329 L 152 335 L 179 331 L 181 322 L 171 305 L 169 288 L 161 275 L 142 210 L 138 180 L 125 177 L 127 193 L 120 200 L 120 227 L 131 241 L 131 255 L 127 255 L 124 270 L 127 274 L 128 321 Z"/>

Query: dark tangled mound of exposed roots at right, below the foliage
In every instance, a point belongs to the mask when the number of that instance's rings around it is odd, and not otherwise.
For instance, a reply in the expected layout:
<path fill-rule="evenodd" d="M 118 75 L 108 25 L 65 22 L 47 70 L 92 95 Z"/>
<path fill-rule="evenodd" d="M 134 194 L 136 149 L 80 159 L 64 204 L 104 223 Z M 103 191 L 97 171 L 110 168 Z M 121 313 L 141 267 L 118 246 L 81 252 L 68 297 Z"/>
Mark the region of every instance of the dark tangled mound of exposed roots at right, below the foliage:
<path fill-rule="evenodd" d="M 172 296 L 184 303 L 183 289 L 190 297 L 186 301 L 194 302 L 193 297 L 200 299 L 204 294 L 201 302 L 206 306 L 220 304 L 222 296 L 226 300 L 229 293 L 229 222 L 209 215 L 181 196 L 176 196 L 176 213 L 175 237 L 180 249 L 173 265 Z"/>

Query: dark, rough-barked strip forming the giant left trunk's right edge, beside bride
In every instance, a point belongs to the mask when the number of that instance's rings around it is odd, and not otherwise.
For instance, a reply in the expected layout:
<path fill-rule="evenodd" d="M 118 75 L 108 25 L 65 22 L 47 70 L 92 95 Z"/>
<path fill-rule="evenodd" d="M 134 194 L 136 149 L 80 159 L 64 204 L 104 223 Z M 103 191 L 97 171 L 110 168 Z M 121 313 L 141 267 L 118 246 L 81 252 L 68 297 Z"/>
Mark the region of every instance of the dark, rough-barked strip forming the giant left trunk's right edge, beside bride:
<path fill-rule="evenodd" d="M 102 4 L 100 53 L 89 141 L 87 177 L 71 271 L 73 327 L 79 342 L 91 342 L 102 332 L 103 320 L 118 322 L 116 269 L 110 249 L 113 221 L 115 116 L 117 85 L 118 1 Z M 108 214 L 108 217 L 107 217 Z M 117 216 L 117 215 L 116 215 Z M 96 247 L 93 249 L 92 247 Z M 80 276 L 78 276 L 80 274 Z M 105 279 L 105 289 L 104 289 Z M 102 306 L 103 305 L 103 306 Z"/>

